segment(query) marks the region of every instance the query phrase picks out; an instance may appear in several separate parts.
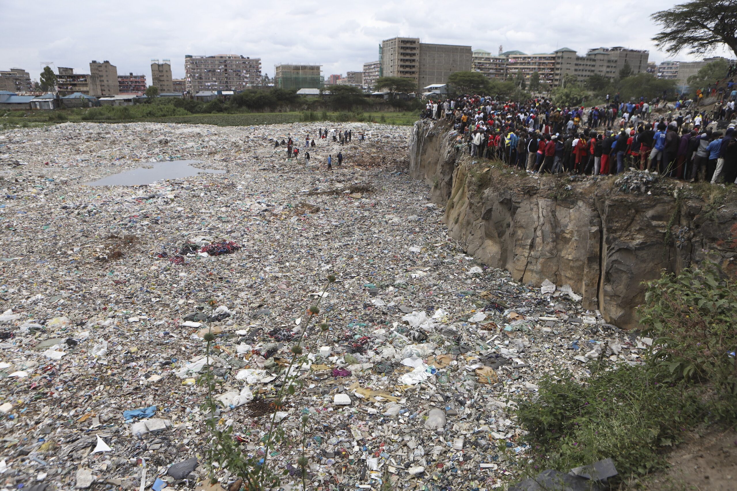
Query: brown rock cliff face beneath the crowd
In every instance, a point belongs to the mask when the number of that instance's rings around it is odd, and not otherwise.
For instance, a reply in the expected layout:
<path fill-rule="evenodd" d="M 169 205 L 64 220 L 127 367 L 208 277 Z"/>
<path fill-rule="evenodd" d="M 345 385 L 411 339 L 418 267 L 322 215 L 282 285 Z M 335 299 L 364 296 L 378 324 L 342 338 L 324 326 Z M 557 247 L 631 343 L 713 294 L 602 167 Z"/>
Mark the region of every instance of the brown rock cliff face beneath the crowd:
<path fill-rule="evenodd" d="M 618 176 L 520 175 L 472 160 L 456 148 L 452 127 L 440 122 L 419 121 L 410 152 L 412 176 L 445 205 L 450 235 L 467 253 L 523 283 L 568 284 L 583 295 L 584 308 L 598 308 L 619 327 L 638 327 L 642 282 L 663 269 L 677 272 L 710 256 L 730 274 L 737 271 L 734 201 L 710 202 L 672 180 L 628 193 Z"/>

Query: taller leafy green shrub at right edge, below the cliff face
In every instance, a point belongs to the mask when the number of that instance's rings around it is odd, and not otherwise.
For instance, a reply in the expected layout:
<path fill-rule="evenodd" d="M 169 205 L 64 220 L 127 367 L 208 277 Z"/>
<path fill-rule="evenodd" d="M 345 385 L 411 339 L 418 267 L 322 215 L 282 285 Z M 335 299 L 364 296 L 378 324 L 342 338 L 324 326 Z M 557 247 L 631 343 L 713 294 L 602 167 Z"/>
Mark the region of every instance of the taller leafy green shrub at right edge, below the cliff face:
<path fill-rule="evenodd" d="M 645 302 L 638 312 L 654 338 L 650 363 L 672 381 L 710 382 L 720 415 L 737 417 L 737 282 L 705 261 L 649 282 Z"/>

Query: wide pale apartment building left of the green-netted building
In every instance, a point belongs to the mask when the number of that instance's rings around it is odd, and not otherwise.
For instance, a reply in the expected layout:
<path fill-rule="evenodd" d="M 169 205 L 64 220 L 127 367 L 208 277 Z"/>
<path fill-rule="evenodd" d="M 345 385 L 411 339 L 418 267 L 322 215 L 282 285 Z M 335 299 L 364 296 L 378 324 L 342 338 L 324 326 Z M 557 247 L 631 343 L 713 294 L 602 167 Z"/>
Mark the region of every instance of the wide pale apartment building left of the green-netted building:
<path fill-rule="evenodd" d="M 186 91 L 242 91 L 261 80 L 261 58 L 241 54 L 184 56 Z"/>

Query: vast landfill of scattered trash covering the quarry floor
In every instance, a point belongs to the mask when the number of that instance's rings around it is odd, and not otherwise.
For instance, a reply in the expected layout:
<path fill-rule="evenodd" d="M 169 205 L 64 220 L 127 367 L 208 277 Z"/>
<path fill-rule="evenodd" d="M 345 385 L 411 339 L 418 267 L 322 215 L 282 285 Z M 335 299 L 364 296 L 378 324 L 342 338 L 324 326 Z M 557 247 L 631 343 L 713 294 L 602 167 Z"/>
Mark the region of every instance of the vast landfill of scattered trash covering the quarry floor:
<path fill-rule="evenodd" d="M 326 128 L 351 141 L 319 138 Z M 237 490 L 227 469 L 206 479 L 208 369 L 243 452 L 263 453 L 272 418 L 284 428 L 290 441 L 268 465 L 298 466 L 307 414 L 308 489 L 489 490 L 517 478 L 530 451 L 517 401 L 559 370 L 586 378 L 600 357 L 638 363 L 652 340 L 585 311 L 554 278 L 533 288 L 466 255 L 408 174 L 410 133 L 0 133 L 0 490 Z M 309 166 L 287 159 L 290 138 Z M 203 170 L 88 185 L 185 159 Z M 303 333 L 302 388 L 277 407 Z M 281 486 L 301 478 L 290 471 Z"/>

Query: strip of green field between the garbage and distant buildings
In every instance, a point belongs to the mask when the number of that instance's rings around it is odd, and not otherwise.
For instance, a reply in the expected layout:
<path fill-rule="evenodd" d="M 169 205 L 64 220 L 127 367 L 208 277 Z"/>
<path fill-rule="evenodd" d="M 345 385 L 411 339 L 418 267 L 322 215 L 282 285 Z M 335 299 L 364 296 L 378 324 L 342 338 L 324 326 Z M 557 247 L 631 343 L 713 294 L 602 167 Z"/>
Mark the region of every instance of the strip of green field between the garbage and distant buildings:
<path fill-rule="evenodd" d="M 38 127 L 47 124 L 70 122 L 132 123 L 139 121 L 156 123 L 215 124 L 217 126 L 254 126 L 257 124 L 296 123 L 298 121 L 366 121 L 382 124 L 412 125 L 419 119 L 416 111 L 408 112 L 323 112 L 304 111 L 301 113 L 211 113 L 189 114 L 186 116 L 165 116 L 158 118 L 130 117 L 127 119 L 85 119 L 85 110 L 21 111 L 0 116 L 0 126 Z M 326 118 L 324 116 L 327 116 Z"/>

